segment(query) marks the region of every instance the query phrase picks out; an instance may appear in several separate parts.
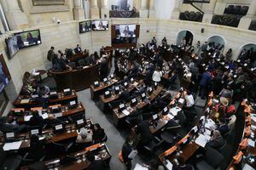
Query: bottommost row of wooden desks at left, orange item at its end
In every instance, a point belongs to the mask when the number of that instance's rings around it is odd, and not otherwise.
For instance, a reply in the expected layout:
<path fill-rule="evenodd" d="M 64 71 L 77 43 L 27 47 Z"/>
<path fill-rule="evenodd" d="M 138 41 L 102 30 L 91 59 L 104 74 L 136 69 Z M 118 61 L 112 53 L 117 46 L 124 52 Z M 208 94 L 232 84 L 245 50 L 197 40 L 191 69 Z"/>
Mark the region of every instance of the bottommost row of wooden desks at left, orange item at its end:
<path fill-rule="evenodd" d="M 107 144 L 94 144 L 90 147 L 72 153 L 69 156 L 74 158 L 71 162 L 65 162 L 65 156 L 56 158 L 50 161 L 44 161 L 44 169 L 58 169 L 58 170 L 83 170 L 90 166 L 90 161 L 87 160 L 86 154 L 89 153 L 96 156 L 96 160 L 101 160 L 109 163 L 111 154 L 108 150 Z M 64 162 L 62 161 L 64 160 Z M 29 166 L 21 167 L 21 170 L 30 169 Z"/>

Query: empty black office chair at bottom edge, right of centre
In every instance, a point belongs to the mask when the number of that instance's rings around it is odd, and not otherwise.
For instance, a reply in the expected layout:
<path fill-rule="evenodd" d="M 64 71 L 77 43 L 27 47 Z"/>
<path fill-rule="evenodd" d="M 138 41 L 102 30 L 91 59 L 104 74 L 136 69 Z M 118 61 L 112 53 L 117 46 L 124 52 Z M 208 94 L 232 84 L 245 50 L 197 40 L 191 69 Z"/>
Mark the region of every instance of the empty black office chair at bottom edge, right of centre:
<path fill-rule="evenodd" d="M 222 161 L 224 161 L 224 156 L 218 150 L 208 147 L 204 159 L 196 162 L 196 167 L 198 170 L 216 170 L 220 169 L 219 166 Z"/>

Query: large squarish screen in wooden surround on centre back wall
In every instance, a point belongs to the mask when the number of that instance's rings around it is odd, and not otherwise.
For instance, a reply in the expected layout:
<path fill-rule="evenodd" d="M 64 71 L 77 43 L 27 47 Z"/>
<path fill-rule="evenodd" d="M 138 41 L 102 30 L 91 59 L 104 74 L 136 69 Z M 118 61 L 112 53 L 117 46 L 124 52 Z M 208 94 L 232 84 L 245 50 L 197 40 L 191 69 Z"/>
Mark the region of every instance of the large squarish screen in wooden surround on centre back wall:
<path fill-rule="evenodd" d="M 117 25 L 115 26 L 116 43 L 136 43 L 136 25 Z"/>

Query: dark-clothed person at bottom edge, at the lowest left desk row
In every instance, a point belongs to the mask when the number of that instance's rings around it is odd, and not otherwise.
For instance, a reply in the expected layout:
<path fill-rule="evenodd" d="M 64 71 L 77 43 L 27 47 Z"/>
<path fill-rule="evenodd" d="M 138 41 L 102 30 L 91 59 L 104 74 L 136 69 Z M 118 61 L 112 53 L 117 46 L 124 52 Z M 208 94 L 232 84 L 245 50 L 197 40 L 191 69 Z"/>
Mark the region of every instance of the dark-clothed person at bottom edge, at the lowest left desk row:
<path fill-rule="evenodd" d="M 99 170 L 99 169 L 109 169 L 108 165 L 102 160 L 95 160 L 95 156 L 88 154 L 87 159 L 90 161 L 90 165 L 86 167 L 86 170 Z"/>

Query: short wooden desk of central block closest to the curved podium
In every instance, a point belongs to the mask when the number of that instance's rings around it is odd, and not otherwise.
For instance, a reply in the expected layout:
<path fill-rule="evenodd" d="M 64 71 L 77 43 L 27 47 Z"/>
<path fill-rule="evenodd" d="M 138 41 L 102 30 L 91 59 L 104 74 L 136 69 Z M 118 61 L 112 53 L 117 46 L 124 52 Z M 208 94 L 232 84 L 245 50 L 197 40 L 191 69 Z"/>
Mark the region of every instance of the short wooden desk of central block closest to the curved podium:
<path fill-rule="evenodd" d="M 94 87 L 94 85 L 90 85 L 90 99 L 98 100 L 99 96 L 103 94 L 103 92 L 113 86 L 116 82 L 119 81 L 119 77 L 113 77 L 109 83 L 100 82 L 99 87 Z"/>

